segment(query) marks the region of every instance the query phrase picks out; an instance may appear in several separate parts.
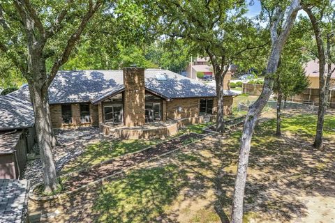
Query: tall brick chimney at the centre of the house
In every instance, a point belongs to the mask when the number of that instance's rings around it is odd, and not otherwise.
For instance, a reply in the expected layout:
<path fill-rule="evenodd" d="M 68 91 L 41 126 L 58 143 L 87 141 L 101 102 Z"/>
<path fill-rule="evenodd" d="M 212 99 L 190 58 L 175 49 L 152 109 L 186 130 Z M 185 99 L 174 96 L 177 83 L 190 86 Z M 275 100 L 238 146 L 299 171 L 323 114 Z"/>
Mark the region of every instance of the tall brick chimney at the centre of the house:
<path fill-rule="evenodd" d="M 124 68 L 124 124 L 144 125 L 144 68 Z"/>

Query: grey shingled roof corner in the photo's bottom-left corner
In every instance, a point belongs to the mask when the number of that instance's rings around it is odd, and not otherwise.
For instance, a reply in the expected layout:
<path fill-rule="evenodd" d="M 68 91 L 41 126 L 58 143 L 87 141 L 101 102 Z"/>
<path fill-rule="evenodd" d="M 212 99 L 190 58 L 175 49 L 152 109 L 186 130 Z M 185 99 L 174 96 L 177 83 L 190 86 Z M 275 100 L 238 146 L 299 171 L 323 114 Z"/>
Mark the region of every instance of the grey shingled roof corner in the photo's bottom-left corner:
<path fill-rule="evenodd" d="M 21 222 L 27 213 L 27 180 L 0 179 L 0 222 Z"/>

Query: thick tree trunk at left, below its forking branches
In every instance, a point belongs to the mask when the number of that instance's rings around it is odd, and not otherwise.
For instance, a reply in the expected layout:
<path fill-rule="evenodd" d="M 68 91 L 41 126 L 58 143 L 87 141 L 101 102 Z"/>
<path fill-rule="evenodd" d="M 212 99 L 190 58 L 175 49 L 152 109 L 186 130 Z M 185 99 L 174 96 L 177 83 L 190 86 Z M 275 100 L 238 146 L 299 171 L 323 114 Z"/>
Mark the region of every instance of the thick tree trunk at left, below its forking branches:
<path fill-rule="evenodd" d="M 58 180 L 52 157 L 52 128 L 50 114 L 47 112 L 49 107 L 47 90 L 43 91 L 42 87 L 30 83 L 29 91 L 34 107 L 36 136 L 40 147 L 45 192 L 48 193 L 57 189 Z"/>

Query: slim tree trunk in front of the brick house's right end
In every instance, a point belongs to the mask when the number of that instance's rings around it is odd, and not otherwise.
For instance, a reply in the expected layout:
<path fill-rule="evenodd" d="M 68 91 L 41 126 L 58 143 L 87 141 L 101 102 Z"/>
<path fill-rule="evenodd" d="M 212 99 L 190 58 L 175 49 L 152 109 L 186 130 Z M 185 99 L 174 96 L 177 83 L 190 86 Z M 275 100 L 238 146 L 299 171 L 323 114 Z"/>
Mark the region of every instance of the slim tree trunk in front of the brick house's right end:
<path fill-rule="evenodd" d="M 225 131 L 225 120 L 224 120 L 224 114 L 225 109 L 223 105 L 223 75 L 216 75 L 216 98 L 218 100 L 218 111 L 216 114 L 216 132 L 224 132 Z"/>

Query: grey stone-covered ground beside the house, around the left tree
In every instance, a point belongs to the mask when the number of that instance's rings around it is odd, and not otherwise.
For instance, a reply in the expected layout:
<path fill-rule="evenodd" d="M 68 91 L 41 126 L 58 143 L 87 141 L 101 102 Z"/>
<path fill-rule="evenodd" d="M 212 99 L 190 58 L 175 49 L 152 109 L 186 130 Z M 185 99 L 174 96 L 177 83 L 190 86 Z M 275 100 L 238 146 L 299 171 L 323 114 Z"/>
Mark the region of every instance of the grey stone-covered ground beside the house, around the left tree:
<path fill-rule="evenodd" d="M 98 128 L 79 128 L 77 130 L 55 130 L 58 145 L 52 149 L 57 172 L 64 165 L 83 152 L 83 147 L 94 143 L 105 136 Z M 33 148 L 38 154 L 38 145 Z M 28 160 L 26 169 L 22 172 L 22 179 L 31 180 L 31 185 L 42 182 L 42 163 L 40 159 Z"/>

